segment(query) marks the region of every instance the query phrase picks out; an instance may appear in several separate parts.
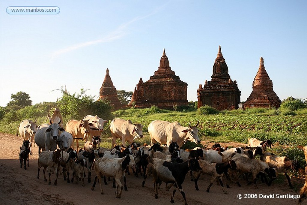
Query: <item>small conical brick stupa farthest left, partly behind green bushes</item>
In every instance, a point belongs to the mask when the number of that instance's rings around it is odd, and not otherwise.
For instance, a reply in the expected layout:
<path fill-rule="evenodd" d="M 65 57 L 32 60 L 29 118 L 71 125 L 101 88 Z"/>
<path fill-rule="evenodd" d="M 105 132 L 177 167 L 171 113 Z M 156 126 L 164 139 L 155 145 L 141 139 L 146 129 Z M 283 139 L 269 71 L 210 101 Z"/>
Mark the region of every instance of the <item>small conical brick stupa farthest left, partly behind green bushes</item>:
<path fill-rule="evenodd" d="M 104 77 L 102 86 L 100 88 L 99 99 L 110 101 L 115 110 L 125 107 L 120 103 L 117 97 L 116 88 L 114 87 L 109 75 L 109 69 L 106 71 L 106 76 Z"/>

